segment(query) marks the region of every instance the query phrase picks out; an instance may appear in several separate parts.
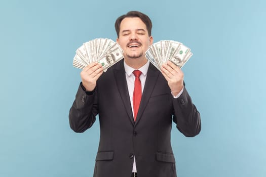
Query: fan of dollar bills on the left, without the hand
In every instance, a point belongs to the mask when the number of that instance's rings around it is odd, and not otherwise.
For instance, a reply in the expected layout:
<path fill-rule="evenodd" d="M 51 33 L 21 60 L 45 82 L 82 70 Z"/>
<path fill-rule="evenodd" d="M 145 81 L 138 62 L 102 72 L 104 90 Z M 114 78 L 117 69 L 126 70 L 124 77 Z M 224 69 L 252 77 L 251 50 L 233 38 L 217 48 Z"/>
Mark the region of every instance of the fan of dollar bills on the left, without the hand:
<path fill-rule="evenodd" d="M 97 61 L 101 63 L 104 71 L 123 59 L 123 50 L 117 42 L 107 38 L 96 38 L 77 49 L 73 59 L 73 66 L 84 69 L 87 65 Z"/>

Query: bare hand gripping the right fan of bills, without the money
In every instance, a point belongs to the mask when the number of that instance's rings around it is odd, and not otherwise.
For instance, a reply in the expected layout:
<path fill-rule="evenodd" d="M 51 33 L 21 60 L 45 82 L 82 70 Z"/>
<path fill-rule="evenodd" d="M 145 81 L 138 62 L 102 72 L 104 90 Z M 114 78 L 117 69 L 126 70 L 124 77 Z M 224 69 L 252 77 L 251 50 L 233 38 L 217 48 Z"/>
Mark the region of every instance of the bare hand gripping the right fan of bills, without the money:
<path fill-rule="evenodd" d="M 161 71 L 168 82 L 172 94 L 179 94 L 183 89 L 184 74 L 182 70 L 171 61 L 167 61 L 166 64 L 162 65 Z"/>

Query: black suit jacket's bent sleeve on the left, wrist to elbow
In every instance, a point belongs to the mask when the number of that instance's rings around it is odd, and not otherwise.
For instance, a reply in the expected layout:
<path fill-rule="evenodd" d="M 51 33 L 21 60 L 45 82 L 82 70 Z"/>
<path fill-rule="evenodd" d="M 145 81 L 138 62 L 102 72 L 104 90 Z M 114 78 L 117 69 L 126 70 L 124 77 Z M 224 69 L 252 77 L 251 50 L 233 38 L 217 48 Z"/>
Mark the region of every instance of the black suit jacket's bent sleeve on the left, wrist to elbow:
<path fill-rule="evenodd" d="M 93 94 L 88 95 L 80 85 L 69 111 L 71 129 L 75 132 L 84 132 L 90 128 L 98 114 L 97 107 L 97 89 Z"/>

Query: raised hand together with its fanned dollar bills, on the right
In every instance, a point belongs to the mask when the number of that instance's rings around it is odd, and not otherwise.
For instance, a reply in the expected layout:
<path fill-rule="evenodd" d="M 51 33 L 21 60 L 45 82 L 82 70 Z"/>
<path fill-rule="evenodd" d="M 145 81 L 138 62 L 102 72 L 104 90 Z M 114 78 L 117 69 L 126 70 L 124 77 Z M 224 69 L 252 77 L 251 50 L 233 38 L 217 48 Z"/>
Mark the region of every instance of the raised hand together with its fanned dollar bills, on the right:
<path fill-rule="evenodd" d="M 146 51 L 146 58 L 162 72 L 174 96 L 183 89 L 181 68 L 192 55 L 191 49 L 173 40 L 156 42 Z"/>

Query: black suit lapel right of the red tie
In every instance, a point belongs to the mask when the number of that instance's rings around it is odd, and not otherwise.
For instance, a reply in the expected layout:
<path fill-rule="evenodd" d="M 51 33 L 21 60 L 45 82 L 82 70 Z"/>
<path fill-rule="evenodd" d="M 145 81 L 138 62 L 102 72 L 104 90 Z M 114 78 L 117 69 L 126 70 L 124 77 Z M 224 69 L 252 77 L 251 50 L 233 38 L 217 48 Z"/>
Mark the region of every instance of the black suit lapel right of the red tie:
<path fill-rule="evenodd" d="M 150 63 L 148 72 L 147 72 L 144 90 L 143 90 L 142 97 L 141 97 L 141 102 L 140 102 L 137 118 L 136 118 L 136 122 L 135 122 L 135 126 L 140 121 L 143 111 L 145 110 L 145 107 L 149 101 L 150 95 L 151 93 L 153 93 L 154 86 L 158 79 L 159 73 L 160 71 L 156 69 L 153 64 Z"/>

